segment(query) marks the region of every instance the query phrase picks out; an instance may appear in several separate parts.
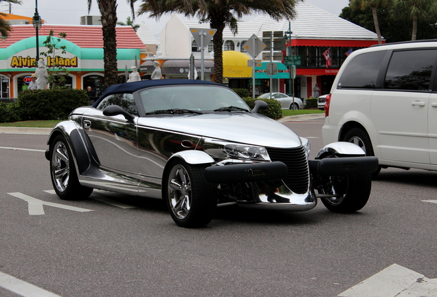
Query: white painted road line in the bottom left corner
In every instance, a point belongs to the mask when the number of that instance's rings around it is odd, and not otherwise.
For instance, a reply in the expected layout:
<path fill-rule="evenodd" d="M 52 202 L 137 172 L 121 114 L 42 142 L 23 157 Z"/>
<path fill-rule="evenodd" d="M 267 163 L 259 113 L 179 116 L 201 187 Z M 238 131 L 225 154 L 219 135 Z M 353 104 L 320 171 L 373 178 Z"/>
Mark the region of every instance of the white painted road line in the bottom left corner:
<path fill-rule="evenodd" d="M 48 292 L 45 289 L 36 287 L 36 285 L 26 283 L 25 281 L 21 281 L 18 278 L 14 278 L 13 276 L 1 272 L 0 287 L 23 297 L 60 297 L 59 295 Z"/>

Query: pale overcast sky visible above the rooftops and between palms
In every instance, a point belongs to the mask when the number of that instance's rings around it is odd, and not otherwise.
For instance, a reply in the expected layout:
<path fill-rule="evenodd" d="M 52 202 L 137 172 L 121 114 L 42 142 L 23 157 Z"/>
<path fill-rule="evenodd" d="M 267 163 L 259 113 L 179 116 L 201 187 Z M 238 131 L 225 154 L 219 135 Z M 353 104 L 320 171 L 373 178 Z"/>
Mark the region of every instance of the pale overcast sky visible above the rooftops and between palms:
<path fill-rule="evenodd" d="M 259 0 L 262 1 L 262 0 Z M 19 14 L 25 17 L 33 17 L 35 13 L 35 5 L 38 2 L 38 14 L 45 23 L 52 25 L 79 25 L 80 17 L 85 15 L 100 15 L 96 0 L 93 0 L 91 11 L 88 13 L 87 0 L 21 0 L 21 5 L 12 4 L 12 14 Z M 137 1 L 135 8 L 139 7 L 141 0 Z M 306 3 L 314 5 L 322 10 L 330 12 L 338 16 L 341 9 L 349 4 L 349 0 L 305 0 Z M 9 12 L 9 5 L 0 5 L 1 12 Z M 131 16 L 131 9 L 124 0 L 117 0 L 117 19 L 118 21 L 126 22 L 126 18 Z M 135 17 L 134 23 L 146 23 L 153 34 L 159 34 L 164 28 L 166 21 L 170 16 L 161 17 L 159 21 L 149 19 L 147 15 Z M 253 18 L 253 17 L 252 17 Z M 250 20 L 251 17 L 245 17 L 245 20 Z"/>

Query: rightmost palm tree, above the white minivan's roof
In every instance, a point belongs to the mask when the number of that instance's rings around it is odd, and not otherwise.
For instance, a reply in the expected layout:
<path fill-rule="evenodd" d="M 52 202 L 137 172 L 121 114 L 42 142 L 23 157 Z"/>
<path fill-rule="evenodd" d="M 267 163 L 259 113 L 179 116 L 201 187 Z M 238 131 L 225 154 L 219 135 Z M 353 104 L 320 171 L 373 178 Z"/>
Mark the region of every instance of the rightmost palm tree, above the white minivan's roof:
<path fill-rule="evenodd" d="M 417 38 L 417 21 L 428 20 L 435 14 L 436 0 L 393 0 L 393 12 L 413 21 L 411 40 Z"/>

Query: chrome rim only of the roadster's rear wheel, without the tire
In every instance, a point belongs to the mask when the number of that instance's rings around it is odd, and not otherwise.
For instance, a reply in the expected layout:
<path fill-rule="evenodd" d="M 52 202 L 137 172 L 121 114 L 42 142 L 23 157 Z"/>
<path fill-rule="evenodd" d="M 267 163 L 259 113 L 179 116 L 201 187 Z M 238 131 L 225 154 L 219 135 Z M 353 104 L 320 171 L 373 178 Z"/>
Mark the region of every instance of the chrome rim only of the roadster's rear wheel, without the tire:
<path fill-rule="evenodd" d="M 52 179 L 56 188 L 64 192 L 70 178 L 70 165 L 67 147 L 63 142 L 56 142 L 52 151 Z"/>

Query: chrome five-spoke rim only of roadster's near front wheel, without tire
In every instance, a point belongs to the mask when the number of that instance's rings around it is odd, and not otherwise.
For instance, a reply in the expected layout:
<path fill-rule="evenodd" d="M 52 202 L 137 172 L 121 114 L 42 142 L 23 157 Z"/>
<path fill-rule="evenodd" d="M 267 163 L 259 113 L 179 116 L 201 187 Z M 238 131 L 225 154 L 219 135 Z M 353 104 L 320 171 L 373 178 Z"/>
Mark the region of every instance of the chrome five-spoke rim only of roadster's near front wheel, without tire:
<path fill-rule="evenodd" d="M 172 212 L 178 219 L 185 219 L 192 203 L 191 181 L 186 168 L 181 164 L 176 164 L 170 170 L 167 189 Z"/>

